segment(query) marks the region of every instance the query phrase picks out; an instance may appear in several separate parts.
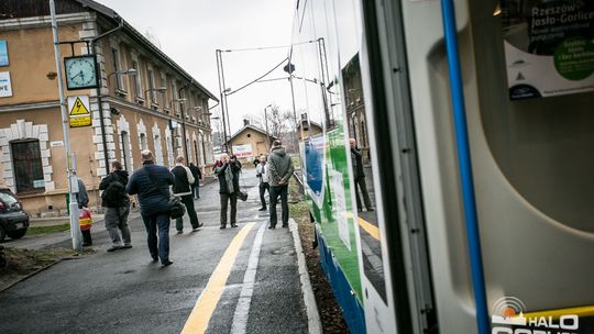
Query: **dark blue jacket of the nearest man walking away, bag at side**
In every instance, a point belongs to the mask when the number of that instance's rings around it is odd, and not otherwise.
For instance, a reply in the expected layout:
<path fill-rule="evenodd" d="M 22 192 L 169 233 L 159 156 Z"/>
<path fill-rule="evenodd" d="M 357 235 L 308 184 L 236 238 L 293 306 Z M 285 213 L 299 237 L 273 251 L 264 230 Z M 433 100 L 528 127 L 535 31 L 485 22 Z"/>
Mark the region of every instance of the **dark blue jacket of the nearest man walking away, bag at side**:
<path fill-rule="evenodd" d="M 143 215 L 153 215 L 169 210 L 169 186 L 173 183 L 174 176 L 166 167 L 144 162 L 142 168 L 130 177 L 125 191 L 139 196 Z"/>

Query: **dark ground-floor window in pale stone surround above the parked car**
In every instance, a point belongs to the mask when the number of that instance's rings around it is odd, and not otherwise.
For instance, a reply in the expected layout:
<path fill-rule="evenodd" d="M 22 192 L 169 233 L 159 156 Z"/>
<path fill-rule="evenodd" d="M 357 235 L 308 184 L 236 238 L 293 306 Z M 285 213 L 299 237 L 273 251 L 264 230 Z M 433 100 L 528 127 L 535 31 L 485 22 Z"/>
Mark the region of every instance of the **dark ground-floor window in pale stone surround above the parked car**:
<path fill-rule="evenodd" d="M 38 140 L 10 143 L 18 193 L 45 191 Z"/>

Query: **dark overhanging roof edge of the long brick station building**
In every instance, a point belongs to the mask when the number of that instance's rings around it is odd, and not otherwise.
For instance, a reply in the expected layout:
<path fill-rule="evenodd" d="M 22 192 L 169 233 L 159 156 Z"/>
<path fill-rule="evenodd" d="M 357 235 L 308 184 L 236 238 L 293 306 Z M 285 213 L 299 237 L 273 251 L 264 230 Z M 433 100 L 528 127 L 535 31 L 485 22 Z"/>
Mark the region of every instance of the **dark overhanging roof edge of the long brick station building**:
<path fill-rule="evenodd" d="M 74 0 L 74 1 L 80 3 L 82 7 L 89 8 L 102 14 L 103 16 L 110 19 L 114 24 L 121 24 L 123 26 L 123 30 L 130 35 L 130 37 L 139 42 L 141 45 L 145 46 L 148 52 L 156 54 L 157 57 L 162 62 L 166 63 L 167 65 L 172 66 L 177 71 L 179 71 L 189 81 L 188 85 L 193 85 L 194 87 L 204 91 L 210 99 L 219 102 L 219 99 L 217 98 L 217 96 L 215 96 L 212 92 L 206 89 L 206 87 L 200 85 L 198 80 L 196 80 L 191 75 L 189 75 L 186 70 L 184 70 L 184 68 L 177 65 L 177 63 L 175 63 L 165 53 L 163 53 L 158 47 L 156 47 L 151 41 L 148 41 L 144 35 L 142 35 L 136 29 L 134 29 L 130 23 L 128 23 L 116 11 L 92 0 Z"/>

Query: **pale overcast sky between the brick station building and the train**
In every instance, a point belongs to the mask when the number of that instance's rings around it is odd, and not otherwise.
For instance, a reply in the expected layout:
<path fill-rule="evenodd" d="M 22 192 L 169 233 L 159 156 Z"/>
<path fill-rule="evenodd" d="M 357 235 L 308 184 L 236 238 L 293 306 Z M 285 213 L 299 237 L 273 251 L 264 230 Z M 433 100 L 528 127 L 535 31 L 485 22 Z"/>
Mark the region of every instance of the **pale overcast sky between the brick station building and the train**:
<path fill-rule="evenodd" d="M 96 0 L 118 12 L 161 49 L 219 96 L 215 51 L 288 45 L 295 0 Z M 240 88 L 278 64 L 287 49 L 223 53 L 227 87 Z M 282 67 L 268 78 L 286 77 Z M 228 97 L 231 132 L 244 114 L 263 116 L 276 103 L 292 110 L 288 81 L 254 84 Z M 213 102 L 210 102 L 213 105 Z M 213 109 L 215 114 L 220 113 Z"/>

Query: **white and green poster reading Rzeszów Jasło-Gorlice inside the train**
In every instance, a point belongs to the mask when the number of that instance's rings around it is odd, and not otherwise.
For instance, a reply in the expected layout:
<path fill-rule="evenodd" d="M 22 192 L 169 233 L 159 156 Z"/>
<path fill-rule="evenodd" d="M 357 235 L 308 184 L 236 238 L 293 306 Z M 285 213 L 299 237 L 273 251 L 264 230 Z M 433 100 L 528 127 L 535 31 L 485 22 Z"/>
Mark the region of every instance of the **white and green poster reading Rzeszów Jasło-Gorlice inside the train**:
<path fill-rule="evenodd" d="M 594 90 L 593 0 L 503 0 L 513 100 Z"/>

